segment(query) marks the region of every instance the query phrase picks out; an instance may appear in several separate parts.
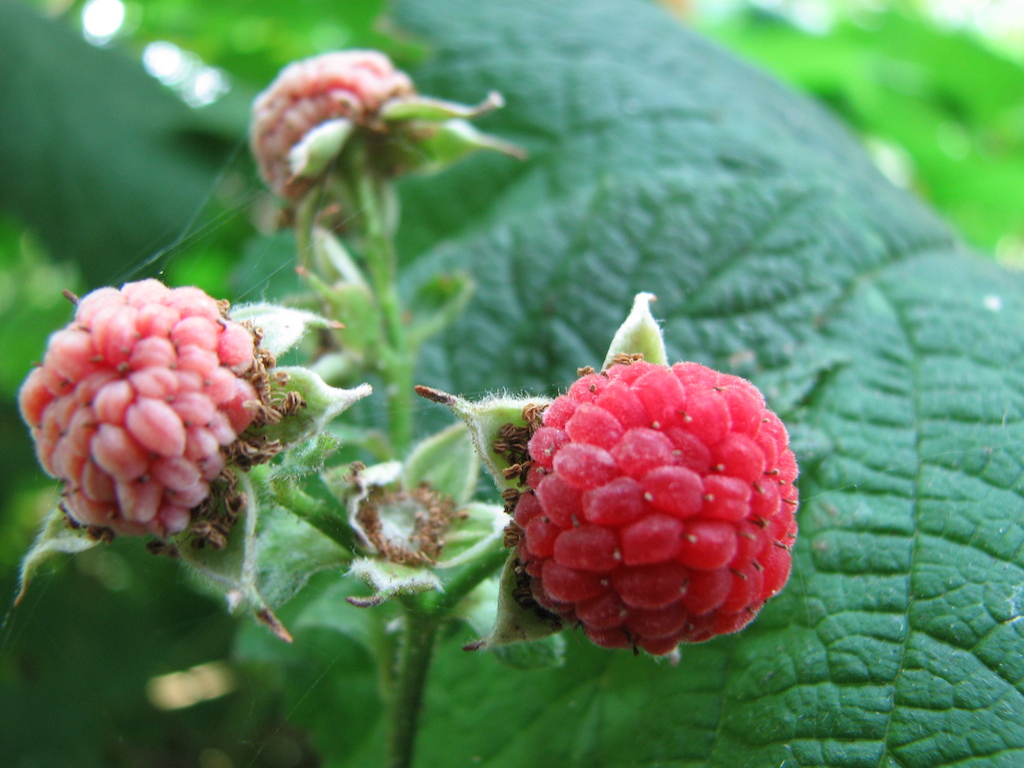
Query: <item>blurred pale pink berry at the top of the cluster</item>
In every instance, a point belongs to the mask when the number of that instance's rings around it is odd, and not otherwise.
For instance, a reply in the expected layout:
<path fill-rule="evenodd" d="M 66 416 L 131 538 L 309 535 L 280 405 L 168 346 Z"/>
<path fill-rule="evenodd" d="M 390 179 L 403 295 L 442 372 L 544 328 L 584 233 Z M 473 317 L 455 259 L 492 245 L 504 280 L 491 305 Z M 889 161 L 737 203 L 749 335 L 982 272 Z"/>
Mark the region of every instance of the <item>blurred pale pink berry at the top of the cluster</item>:
<path fill-rule="evenodd" d="M 260 174 L 282 198 L 300 199 L 308 183 L 292 179 L 288 154 L 310 130 L 340 118 L 377 129 L 385 101 L 415 93 L 409 76 L 377 51 L 336 51 L 289 65 L 253 104 L 250 142 Z"/>

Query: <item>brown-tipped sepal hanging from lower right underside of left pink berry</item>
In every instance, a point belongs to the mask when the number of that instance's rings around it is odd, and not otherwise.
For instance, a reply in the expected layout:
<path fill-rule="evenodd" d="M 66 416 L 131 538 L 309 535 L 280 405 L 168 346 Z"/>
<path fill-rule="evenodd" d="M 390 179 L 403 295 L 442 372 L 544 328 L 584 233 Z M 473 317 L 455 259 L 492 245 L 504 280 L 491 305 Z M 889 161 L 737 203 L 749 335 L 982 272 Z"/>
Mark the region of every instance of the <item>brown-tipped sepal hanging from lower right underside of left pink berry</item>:
<path fill-rule="evenodd" d="M 245 473 L 236 474 L 239 487 L 246 497 L 245 508 L 227 537 L 222 549 L 193 546 L 193 534 L 185 531 L 171 538 L 181 561 L 189 566 L 189 573 L 227 602 L 231 613 L 251 613 L 252 616 L 285 642 L 292 636 L 270 610 L 258 588 L 257 525 L 259 523 L 259 498 Z"/>

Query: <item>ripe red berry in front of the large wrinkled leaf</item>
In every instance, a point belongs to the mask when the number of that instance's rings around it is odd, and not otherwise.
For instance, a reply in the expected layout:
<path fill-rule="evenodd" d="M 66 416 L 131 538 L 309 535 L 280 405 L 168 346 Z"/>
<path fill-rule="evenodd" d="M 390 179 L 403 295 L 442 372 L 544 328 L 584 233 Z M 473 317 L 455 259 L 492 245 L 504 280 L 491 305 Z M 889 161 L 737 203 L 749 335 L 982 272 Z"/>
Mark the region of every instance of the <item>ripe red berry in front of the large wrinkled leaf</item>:
<path fill-rule="evenodd" d="M 788 579 L 796 461 L 743 379 L 612 366 L 555 399 L 529 453 L 519 559 L 597 645 L 658 655 L 736 632 Z"/>

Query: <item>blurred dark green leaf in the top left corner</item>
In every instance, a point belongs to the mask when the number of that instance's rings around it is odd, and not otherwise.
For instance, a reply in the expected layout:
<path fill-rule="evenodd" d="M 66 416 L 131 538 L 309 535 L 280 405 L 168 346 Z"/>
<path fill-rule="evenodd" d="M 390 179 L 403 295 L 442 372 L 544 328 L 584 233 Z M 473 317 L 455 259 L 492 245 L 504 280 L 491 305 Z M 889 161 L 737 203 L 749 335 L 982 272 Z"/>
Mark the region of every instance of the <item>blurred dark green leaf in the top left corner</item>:
<path fill-rule="evenodd" d="M 141 63 L 0 3 L 0 209 L 93 285 L 191 233 L 227 155 L 200 129 Z"/>

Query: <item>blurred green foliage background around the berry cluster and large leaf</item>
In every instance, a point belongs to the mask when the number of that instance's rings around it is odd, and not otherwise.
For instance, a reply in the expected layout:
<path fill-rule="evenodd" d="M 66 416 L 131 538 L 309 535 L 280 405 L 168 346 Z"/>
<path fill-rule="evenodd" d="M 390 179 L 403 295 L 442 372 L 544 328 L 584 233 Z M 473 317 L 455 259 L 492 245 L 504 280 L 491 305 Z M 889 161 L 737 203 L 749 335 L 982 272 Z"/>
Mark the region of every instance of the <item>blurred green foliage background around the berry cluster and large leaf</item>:
<path fill-rule="evenodd" d="M 1024 266 L 1020 0 L 660 4 L 816 98 L 894 183 Z M 269 237 L 276 213 L 247 156 L 248 105 L 289 60 L 326 50 L 382 47 L 415 67 L 426 52 L 387 27 L 384 6 L 0 4 L 3 594 L 55 499 L 14 398 L 70 317 L 60 290 L 160 274 L 236 299 L 287 283 L 291 243 Z M 2 614 L 0 765 L 317 764 L 265 692 L 274 671 L 231 664 L 233 621 L 135 543 L 65 561 Z M 168 698 L 175 690 L 183 697 Z"/>

